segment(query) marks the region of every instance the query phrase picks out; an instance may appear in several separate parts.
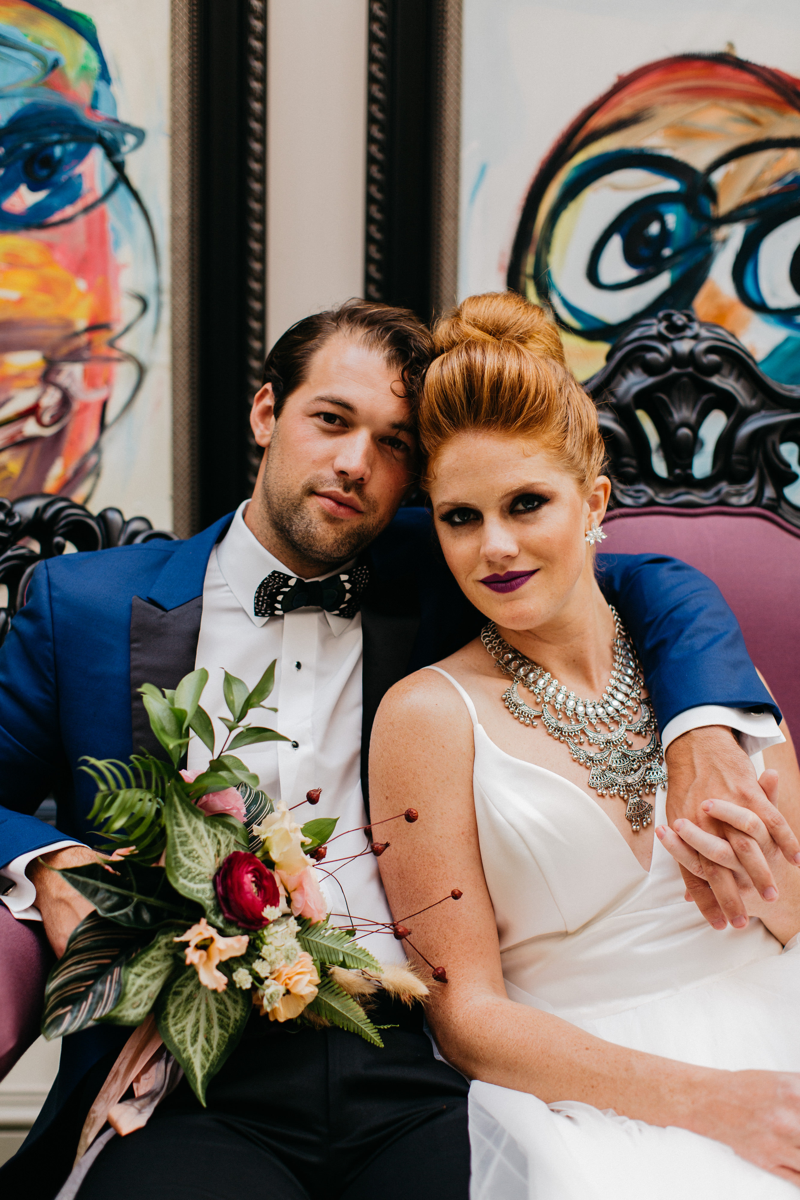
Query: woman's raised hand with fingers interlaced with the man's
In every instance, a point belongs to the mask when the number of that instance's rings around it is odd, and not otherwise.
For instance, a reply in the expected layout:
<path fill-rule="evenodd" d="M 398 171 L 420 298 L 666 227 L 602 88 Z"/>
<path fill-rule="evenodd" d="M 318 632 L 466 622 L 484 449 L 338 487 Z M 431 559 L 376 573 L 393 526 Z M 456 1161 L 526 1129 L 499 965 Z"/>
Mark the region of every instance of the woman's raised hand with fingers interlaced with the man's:
<path fill-rule="evenodd" d="M 777 772 L 765 770 L 759 785 L 770 806 L 774 806 L 777 799 Z M 771 829 L 756 812 L 730 800 L 704 800 L 700 809 L 715 822 L 722 822 L 728 827 L 727 838 L 700 829 L 693 821 L 681 817 L 673 822 L 672 829 L 668 826 L 658 826 L 656 836 L 662 846 L 680 866 L 692 875 L 705 878 L 711 886 L 717 872 L 732 872 L 747 916 L 759 917 L 766 928 L 786 943 L 800 929 L 799 872 L 786 863 L 772 839 Z M 762 881 L 758 889 L 751 877 L 754 856 L 762 858 L 770 872 L 769 878 Z M 778 890 L 780 902 L 777 902 Z M 692 899 L 688 892 L 686 899 Z M 736 929 L 744 929 L 747 917 L 738 914 L 732 924 Z"/>

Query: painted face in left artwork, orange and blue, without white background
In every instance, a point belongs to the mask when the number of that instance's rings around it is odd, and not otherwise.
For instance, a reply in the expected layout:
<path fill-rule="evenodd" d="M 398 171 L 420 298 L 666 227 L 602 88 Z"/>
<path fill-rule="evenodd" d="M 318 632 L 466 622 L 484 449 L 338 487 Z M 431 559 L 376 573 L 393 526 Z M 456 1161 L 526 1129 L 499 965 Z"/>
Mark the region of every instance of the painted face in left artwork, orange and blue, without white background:
<path fill-rule="evenodd" d="M 94 23 L 0 0 L 0 496 L 86 499 L 158 323 L 148 211 L 126 175 Z"/>

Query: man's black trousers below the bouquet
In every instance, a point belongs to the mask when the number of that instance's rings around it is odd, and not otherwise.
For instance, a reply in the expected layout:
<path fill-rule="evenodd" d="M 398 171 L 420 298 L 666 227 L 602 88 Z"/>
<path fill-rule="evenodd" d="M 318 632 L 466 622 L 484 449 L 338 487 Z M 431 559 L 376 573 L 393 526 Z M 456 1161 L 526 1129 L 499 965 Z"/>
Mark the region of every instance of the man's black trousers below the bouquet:
<path fill-rule="evenodd" d="M 384 1003 L 384 1049 L 253 1015 L 203 1109 L 185 1080 L 113 1138 L 79 1200 L 467 1200 L 467 1081 L 421 1013 Z"/>

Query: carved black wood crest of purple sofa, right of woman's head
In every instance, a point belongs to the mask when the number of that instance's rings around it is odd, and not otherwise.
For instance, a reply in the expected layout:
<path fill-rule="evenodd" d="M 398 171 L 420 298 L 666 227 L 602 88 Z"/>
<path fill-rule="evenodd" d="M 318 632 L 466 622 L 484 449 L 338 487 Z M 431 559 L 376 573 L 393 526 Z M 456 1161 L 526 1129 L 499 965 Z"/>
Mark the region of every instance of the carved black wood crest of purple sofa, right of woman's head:
<path fill-rule="evenodd" d="M 691 312 L 661 312 L 612 347 L 587 390 L 608 448 L 613 506 L 758 505 L 800 528 L 800 508 L 784 494 L 799 476 L 780 450 L 800 446 L 800 388 L 769 379 L 727 330 Z M 711 473 L 696 479 L 700 426 L 714 409 L 727 421 Z M 655 426 L 667 478 L 654 468 L 638 413 Z"/>

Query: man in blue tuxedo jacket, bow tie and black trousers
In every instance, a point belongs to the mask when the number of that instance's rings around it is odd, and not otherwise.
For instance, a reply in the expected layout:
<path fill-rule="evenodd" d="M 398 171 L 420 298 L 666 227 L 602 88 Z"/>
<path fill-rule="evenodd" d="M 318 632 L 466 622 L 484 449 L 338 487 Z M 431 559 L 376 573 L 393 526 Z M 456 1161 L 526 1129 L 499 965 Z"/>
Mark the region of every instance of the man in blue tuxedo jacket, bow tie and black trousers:
<path fill-rule="evenodd" d="M 414 478 L 414 410 L 432 355 L 410 313 L 351 301 L 293 326 L 272 348 L 252 426 L 265 450 L 253 499 L 187 541 L 151 541 L 49 559 L 0 650 L 0 863 L 19 919 L 43 920 L 61 953 L 88 905 L 48 866 L 94 858 L 92 782 L 80 758 L 157 750 L 138 688 L 210 672 L 204 706 L 223 712 L 222 671 L 254 683 L 277 660 L 278 727 L 291 740 L 242 757 L 290 805 L 323 787 L 319 815 L 341 817 L 343 854 L 363 848 L 372 721 L 387 689 L 475 635 L 437 554 L 423 509 L 398 506 Z M 603 586 L 642 655 L 670 772 L 670 804 L 698 820 L 708 796 L 766 804 L 742 739 L 777 740 L 780 713 L 747 658 L 720 593 L 658 556 L 600 556 Z M 188 767 L 204 764 L 190 746 Z M 251 752 L 252 751 L 252 752 Z M 32 814 L 50 792 L 58 827 Z M 778 830 L 787 857 L 800 847 Z M 763 862 L 750 868 L 764 890 Z M 342 875 L 333 911 L 390 914 L 377 863 Z M 735 883 L 697 881 L 708 919 L 741 920 Z M 702 890 L 705 888 L 705 890 Z M 371 935 L 384 961 L 399 943 Z M 221 1200 L 264 1180 L 288 1200 L 437 1195 L 464 1200 L 467 1082 L 437 1061 L 421 1015 L 381 1001 L 391 1026 L 378 1050 L 339 1030 L 254 1018 L 201 1109 L 179 1085 L 150 1123 L 114 1138 L 82 1200 L 114 1192 L 194 1198 L 213 1177 Z M 127 1031 L 65 1038 L 53 1092 L 0 1174 L 49 1198 L 70 1171 L 86 1112 Z M 11 1193 L 10 1193 L 11 1194 Z"/>

